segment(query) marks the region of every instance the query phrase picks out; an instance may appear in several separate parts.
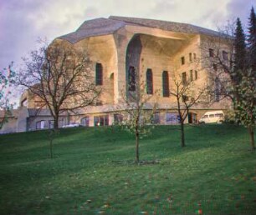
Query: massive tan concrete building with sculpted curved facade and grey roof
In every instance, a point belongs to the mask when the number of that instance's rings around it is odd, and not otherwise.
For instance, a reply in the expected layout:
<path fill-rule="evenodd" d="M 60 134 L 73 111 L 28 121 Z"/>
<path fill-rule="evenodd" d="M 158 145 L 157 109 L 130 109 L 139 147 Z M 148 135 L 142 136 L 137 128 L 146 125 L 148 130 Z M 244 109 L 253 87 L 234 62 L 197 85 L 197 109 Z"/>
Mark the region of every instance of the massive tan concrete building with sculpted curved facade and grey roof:
<path fill-rule="evenodd" d="M 214 52 L 216 43 L 211 42 L 218 41 L 218 51 L 223 53 L 223 57 L 229 57 L 228 44 L 224 38 L 220 38 L 219 32 L 186 23 L 113 16 L 85 21 L 75 32 L 58 37 L 53 43 L 71 45 L 90 53 L 94 64 L 93 75 L 98 76 L 98 80 L 100 76 L 100 83 L 96 84 L 102 87 L 102 93 L 95 106 L 80 109 L 77 114 L 70 114 L 69 120 L 63 119 L 63 124 L 112 124 L 116 111 L 121 110 L 123 93 L 130 90 L 128 82 L 135 69 L 140 72 L 141 81 L 151 84 L 151 92 L 146 93 L 157 92 L 151 97 L 148 107 L 157 101 L 159 122 L 177 123 L 176 98 L 168 93 L 175 87 L 174 80 L 191 80 L 197 87 L 214 85 L 212 70 L 214 72 L 215 67 L 213 65 L 212 68 L 206 56 L 211 57 Z M 21 97 L 21 107 L 36 109 L 39 106 L 40 101 L 28 92 Z M 230 102 L 217 97 L 211 104 L 192 107 L 187 122 L 197 122 L 207 110 L 228 108 Z M 42 120 L 49 124 L 51 119 L 44 117 L 45 119 L 42 116 L 33 119 L 34 125 L 38 122 L 44 123 Z M 35 127 L 27 126 L 32 130 Z"/>

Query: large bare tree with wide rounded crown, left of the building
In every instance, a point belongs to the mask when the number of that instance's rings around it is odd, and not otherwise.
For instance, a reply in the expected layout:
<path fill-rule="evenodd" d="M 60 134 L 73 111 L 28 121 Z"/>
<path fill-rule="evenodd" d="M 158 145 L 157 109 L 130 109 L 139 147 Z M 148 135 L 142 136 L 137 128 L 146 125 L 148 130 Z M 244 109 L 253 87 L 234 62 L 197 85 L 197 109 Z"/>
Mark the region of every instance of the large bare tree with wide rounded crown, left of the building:
<path fill-rule="evenodd" d="M 41 100 L 59 128 L 59 114 L 92 104 L 100 95 L 92 76 L 87 52 L 74 49 L 67 42 L 44 45 L 24 58 L 18 83 Z"/>

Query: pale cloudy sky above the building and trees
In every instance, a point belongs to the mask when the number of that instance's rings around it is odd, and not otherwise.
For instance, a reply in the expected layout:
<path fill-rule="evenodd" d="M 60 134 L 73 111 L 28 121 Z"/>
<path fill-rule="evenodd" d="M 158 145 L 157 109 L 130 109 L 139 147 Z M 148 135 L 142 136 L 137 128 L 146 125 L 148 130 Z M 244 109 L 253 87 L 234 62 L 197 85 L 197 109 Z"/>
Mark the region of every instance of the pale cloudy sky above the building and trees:
<path fill-rule="evenodd" d="M 253 5 L 254 4 L 254 5 Z M 228 20 L 248 23 L 255 0 L 1 0 L 0 69 L 35 49 L 38 37 L 49 42 L 74 32 L 85 20 L 110 15 L 191 23 L 213 30 Z"/>

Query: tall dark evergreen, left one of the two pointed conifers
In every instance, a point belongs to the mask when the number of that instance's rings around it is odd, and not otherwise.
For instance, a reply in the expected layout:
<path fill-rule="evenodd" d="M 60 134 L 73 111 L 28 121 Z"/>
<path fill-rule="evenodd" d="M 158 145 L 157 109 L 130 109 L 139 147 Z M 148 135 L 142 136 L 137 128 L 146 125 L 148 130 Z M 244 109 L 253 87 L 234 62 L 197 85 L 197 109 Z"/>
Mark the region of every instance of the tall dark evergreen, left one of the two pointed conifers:
<path fill-rule="evenodd" d="M 240 19 L 237 19 L 237 26 L 234 39 L 234 69 L 232 72 L 233 84 L 241 82 L 243 75 L 246 73 L 247 53 L 245 44 L 245 35 Z"/>

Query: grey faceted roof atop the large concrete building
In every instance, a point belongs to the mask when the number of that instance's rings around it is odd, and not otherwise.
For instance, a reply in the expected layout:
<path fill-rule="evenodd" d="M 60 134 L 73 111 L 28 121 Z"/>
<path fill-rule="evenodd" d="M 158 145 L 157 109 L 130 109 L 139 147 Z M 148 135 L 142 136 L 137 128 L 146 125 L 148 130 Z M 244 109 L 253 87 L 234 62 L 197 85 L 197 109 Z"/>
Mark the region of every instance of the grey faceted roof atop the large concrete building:
<path fill-rule="evenodd" d="M 71 32 L 59 38 L 74 43 L 79 42 L 79 40 L 82 40 L 86 37 L 112 34 L 118 29 L 125 27 L 125 25 L 157 28 L 171 32 L 184 32 L 195 34 L 199 33 L 210 36 L 220 35 L 219 32 L 187 23 L 174 23 L 147 18 L 125 18 L 110 16 L 110 18 L 96 18 L 85 21 L 75 32 Z"/>

